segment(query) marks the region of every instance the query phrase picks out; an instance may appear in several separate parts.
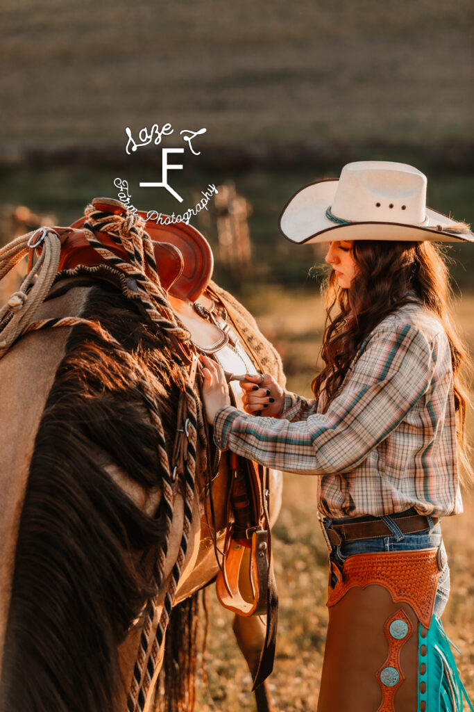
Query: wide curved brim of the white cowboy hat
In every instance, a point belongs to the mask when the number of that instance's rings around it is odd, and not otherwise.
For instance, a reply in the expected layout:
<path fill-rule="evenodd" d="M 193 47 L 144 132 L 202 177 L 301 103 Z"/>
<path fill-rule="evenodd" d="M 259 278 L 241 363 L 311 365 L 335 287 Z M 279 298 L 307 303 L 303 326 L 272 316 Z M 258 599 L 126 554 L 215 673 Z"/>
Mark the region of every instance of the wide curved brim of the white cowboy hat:
<path fill-rule="evenodd" d="M 287 240 L 296 244 L 334 240 L 474 242 L 470 232 L 447 232 L 456 228 L 458 222 L 431 208 L 426 208 L 428 223 L 424 226 L 382 221 L 334 223 L 326 217 L 326 210 L 333 204 L 338 182 L 316 181 L 289 199 L 279 219 L 279 229 Z"/>

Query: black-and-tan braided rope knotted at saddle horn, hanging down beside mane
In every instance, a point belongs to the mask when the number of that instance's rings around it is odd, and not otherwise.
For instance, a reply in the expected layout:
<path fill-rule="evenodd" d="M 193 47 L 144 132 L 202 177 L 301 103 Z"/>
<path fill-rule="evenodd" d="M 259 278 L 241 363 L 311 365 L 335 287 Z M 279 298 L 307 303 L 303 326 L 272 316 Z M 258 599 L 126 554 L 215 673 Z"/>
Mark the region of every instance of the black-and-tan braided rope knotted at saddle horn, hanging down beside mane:
<path fill-rule="evenodd" d="M 170 339 L 171 335 L 176 337 L 182 344 L 188 345 L 190 354 L 193 354 L 190 346 L 190 334 L 188 330 L 178 324 L 173 313 L 171 304 L 166 298 L 166 293 L 161 287 L 156 267 L 156 260 L 153 251 L 153 244 L 149 234 L 145 230 L 144 221 L 138 215 L 126 213 L 125 215 L 109 215 L 97 211 L 94 206 L 87 206 L 85 210 L 86 222 L 84 232 L 90 246 L 95 248 L 107 263 L 125 272 L 136 281 L 139 289 L 141 303 L 144 305 L 149 317 L 156 323 L 165 336 Z M 96 231 L 106 232 L 115 244 L 122 246 L 128 257 L 129 263 L 122 261 L 114 253 L 109 251 L 97 240 Z M 149 412 L 153 425 L 158 434 L 158 458 L 161 468 L 161 486 L 163 499 L 161 507 L 166 521 L 166 534 L 163 545 L 157 553 L 158 571 L 156 579 L 158 587 L 163 583 L 162 577 L 166 565 L 168 554 L 168 543 L 173 527 L 173 476 L 172 468 L 166 450 L 166 439 L 163 431 L 161 418 L 156 412 L 153 404 L 153 394 L 149 390 L 149 385 L 142 384 L 144 393 L 148 396 Z M 183 570 L 185 555 L 188 550 L 188 538 L 191 529 L 193 516 L 193 500 L 195 496 L 195 459 L 196 446 L 198 440 L 197 405 L 192 384 L 185 387 L 186 415 L 188 419 L 188 456 L 184 463 L 183 473 L 181 473 L 180 484 L 184 488 L 184 517 L 181 542 L 178 556 L 173 564 L 171 577 L 168 581 L 161 616 L 156 622 L 158 612 L 158 599 L 149 604 L 144 612 L 143 629 L 139 644 L 139 652 L 134 666 L 127 708 L 130 712 L 142 712 L 146 704 L 146 696 L 149 693 L 153 678 L 159 664 L 159 654 L 163 644 L 166 627 L 168 626 L 173 607 L 173 600 L 178 588 L 178 582 Z M 156 633 L 153 636 L 153 630 Z"/>

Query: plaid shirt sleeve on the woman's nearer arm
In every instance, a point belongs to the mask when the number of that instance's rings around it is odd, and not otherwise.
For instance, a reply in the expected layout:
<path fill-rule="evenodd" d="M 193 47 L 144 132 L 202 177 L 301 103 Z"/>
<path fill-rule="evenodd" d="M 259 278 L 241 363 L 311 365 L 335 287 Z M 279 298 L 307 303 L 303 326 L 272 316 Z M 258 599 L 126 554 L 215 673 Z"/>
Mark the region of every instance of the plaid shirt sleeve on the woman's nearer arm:
<path fill-rule="evenodd" d="M 224 406 L 215 417 L 215 443 L 275 469 L 350 472 L 426 393 L 435 365 L 433 345 L 415 325 L 372 333 L 327 412 L 290 422 Z"/>

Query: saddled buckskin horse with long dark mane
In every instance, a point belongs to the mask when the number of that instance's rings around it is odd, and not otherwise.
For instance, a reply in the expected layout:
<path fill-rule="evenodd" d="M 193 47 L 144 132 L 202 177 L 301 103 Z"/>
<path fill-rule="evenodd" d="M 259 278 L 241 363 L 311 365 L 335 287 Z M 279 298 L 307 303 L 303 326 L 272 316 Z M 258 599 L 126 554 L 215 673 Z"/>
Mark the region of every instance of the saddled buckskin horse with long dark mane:
<path fill-rule="evenodd" d="M 281 473 L 219 460 L 196 355 L 224 365 L 237 404 L 235 375 L 283 382 L 279 356 L 210 282 L 190 226 L 95 199 L 70 228 L 4 247 L 0 278 L 27 254 L 0 310 L 1 712 L 152 712 L 171 647 L 166 708 L 191 710 L 173 669 L 190 674 L 215 577 L 268 712 Z"/>

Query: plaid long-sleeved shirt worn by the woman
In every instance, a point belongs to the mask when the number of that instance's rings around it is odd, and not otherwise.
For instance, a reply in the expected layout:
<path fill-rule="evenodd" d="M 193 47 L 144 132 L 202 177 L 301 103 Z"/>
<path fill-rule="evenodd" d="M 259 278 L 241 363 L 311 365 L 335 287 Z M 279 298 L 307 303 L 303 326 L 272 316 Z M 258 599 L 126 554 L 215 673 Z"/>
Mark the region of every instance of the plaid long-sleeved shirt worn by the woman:
<path fill-rule="evenodd" d="M 462 511 L 448 338 L 421 304 L 370 333 L 343 387 L 321 412 L 285 393 L 279 419 L 222 407 L 215 443 L 264 466 L 319 475 L 318 508 L 331 517 Z"/>

